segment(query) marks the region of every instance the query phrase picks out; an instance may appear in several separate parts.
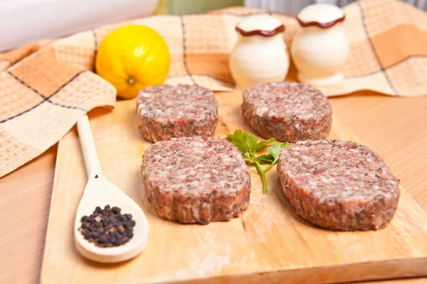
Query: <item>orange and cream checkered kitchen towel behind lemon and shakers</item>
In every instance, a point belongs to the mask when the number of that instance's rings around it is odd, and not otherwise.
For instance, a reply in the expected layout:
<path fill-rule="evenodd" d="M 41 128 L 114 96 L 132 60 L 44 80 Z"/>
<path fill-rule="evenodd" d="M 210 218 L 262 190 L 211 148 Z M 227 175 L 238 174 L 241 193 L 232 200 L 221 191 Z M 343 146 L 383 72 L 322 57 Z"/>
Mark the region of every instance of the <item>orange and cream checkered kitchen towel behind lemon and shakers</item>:
<path fill-rule="evenodd" d="M 362 0 L 344 8 L 351 43 L 345 79 L 328 96 L 371 89 L 393 96 L 427 94 L 427 16 L 396 0 Z M 228 55 L 234 27 L 256 9 L 233 8 L 188 16 L 153 16 L 132 23 L 157 30 L 169 45 L 167 83 L 234 87 Z M 299 26 L 285 23 L 290 46 Z M 0 53 L 0 177 L 46 151 L 94 107 L 114 107 L 115 89 L 92 72 L 97 45 L 125 23 L 45 40 Z M 288 78 L 292 80 L 292 78 Z"/>

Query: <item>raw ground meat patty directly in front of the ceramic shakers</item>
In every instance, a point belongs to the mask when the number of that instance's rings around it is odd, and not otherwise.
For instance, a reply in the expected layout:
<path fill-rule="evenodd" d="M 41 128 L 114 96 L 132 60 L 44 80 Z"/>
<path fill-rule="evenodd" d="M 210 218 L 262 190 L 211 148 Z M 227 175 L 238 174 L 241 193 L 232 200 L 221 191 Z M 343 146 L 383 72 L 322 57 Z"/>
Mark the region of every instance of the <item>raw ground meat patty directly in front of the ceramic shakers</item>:
<path fill-rule="evenodd" d="M 263 138 L 302 141 L 327 138 L 332 109 L 318 89 L 295 82 L 261 83 L 243 92 L 243 117 Z"/>

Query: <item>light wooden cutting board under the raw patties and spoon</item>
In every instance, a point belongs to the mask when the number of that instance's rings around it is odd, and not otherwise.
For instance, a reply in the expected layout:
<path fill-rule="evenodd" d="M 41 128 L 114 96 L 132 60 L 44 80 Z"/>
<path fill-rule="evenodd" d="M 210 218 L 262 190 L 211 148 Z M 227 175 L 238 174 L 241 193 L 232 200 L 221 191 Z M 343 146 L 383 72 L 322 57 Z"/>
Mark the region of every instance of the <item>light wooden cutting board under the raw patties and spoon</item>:
<path fill-rule="evenodd" d="M 241 93 L 216 94 L 217 135 L 251 132 L 241 116 Z M 97 152 L 108 180 L 142 207 L 149 242 L 137 258 L 116 265 L 86 261 L 73 244 L 73 220 L 86 182 L 75 129 L 59 143 L 41 283 L 337 283 L 427 275 L 427 214 L 402 188 L 396 216 L 386 229 L 336 232 L 308 224 L 280 194 L 275 168 L 268 195 L 252 172 L 251 204 L 230 222 L 184 225 L 155 215 L 144 195 L 144 149 L 135 100 L 113 111 L 90 113 Z M 330 138 L 357 141 L 333 117 Z"/>

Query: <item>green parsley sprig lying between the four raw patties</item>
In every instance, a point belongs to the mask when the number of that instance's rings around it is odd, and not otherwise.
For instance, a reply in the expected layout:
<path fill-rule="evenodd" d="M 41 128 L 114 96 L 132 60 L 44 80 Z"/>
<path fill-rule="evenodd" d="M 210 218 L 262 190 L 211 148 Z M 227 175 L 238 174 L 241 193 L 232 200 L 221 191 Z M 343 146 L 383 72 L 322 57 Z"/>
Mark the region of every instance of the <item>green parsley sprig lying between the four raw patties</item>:
<path fill-rule="evenodd" d="M 261 175 L 263 181 L 263 193 L 268 193 L 267 180 L 265 173 L 268 172 L 273 165 L 278 163 L 280 150 L 290 145 L 288 142 L 280 143 L 275 138 L 270 138 L 265 141 L 258 142 L 258 138 L 252 134 L 241 131 L 240 129 L 234 131 L 233 134 L 227 134 L 228 141 L 234 144 L 241 151 L 243 158 L 251 161 L 255 164 L 258 173 Z M 273 145 L 272 145 L 273 144 Z M 270 145 L 270 146 L 269 146 Z M 255 152 L 267 148 L 268 154 L 266 155 L 255 155 Z M 267 168 L 263 169 L 261 163 L 269 163 Z"/>

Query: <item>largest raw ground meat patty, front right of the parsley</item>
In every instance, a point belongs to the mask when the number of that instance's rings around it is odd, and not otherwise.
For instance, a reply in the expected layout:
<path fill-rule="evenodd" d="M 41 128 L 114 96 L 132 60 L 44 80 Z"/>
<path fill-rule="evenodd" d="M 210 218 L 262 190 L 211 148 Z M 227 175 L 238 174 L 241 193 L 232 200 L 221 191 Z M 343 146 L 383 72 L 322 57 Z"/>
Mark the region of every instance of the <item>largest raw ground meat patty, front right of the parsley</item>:
<path fill-rule="evenodd" d="M 382 229 L 394 216 L 399 180 L 367 146 L 304 141 L 278 161 L 282 191 L 307 221 L 339 231 Z"/>

